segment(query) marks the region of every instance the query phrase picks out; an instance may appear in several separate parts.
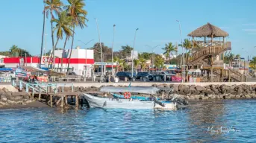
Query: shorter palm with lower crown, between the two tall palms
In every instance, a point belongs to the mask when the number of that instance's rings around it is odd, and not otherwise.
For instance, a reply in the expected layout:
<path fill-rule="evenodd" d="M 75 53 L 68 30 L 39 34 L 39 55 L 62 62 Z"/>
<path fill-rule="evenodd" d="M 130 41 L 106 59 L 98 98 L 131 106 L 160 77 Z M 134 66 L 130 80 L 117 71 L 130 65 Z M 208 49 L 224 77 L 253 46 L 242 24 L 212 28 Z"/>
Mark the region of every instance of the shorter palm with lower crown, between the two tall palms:
<path fill-rule="evenodd" d="M 54 49 L 56 49 L 57 42 L 59 39 L 63 39 L 63 32 L 66 34 L 66 39 L 64 42 L 64 47 L 63 47 L 63 52 L 65 51 L 66 47 L 66 40 L 69 39 L 69 36 L 72 36 L 72 30 L 70 28 L 71 22 L 72 22 L 72 17 L 68 16 L 66 11 L 63 11 L 58 14 L 58 19 L 53 19 L 52 22 L 56 23 L 56 26 L 54 28 L 54 31 L 57 31 L 57 41 L 56 44 L 54 45 Z M 60 71 L 62 71 L 62 66 L 63 66 L 63 53 L 61 56 L 61 68 Z"/>

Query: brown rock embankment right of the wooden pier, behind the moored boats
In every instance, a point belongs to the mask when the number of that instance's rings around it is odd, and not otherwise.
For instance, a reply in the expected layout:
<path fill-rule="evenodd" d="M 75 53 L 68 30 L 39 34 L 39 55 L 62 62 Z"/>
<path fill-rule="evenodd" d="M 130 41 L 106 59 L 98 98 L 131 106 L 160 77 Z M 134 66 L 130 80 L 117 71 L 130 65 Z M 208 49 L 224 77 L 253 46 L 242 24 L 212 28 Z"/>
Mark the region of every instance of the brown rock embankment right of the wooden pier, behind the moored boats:
<path fill-rule="evenodd" d="M 153 84 L 152 86 L 160 89 L 173 89 L 173 92 L 180 95 L 181 98 L 187 100 L 213 100 L 213 99 L 240 99 L 240 98 L 256 98 L 256 85 L 210 85 L 195 86 L 184 84 Z M 61 89 L 58 89 L 61 92 Z M 90 87 L 74 87 L 75 92 L 99 92 L 100 88 Z M 64 87 L 64 92 L 70 92 L 71 87 Z M 164 98 L 168 98 L 166 92 Z M 161 94 L 158 95 L 159 97 Z"/>

